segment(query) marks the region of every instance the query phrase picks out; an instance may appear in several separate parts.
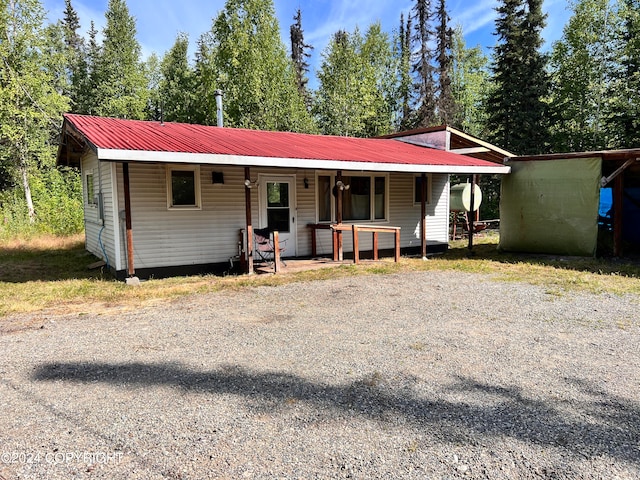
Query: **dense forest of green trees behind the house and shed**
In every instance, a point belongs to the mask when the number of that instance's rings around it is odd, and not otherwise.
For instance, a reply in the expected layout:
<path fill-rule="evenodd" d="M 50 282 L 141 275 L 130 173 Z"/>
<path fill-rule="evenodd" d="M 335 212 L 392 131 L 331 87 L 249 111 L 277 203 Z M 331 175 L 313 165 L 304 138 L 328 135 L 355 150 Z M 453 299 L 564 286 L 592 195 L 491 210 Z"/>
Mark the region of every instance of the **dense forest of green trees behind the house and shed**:
<path fill-rule="evenodd" d="M 72 0 L 0 0 L 0 240 L 82 231 L 79 172 L 55 166 L 64 112 L 371 137 L 448 124 L 515 154 L 640 147 L 640 0 L 574 0 L 543 52 L 542 0 L 500 0 L 490 55 L 446 0 L 415 0 L 397 29 L 337 30 L 309 86 L 304 11 L 282 41 L 272 0 L 227 0 L 210 30 L 143 58 L 125 0 L 86 36 Z M 189 51 L 195 51 L 190 56 Z M 483 176 L 483 218 L 499 180 Z"/>

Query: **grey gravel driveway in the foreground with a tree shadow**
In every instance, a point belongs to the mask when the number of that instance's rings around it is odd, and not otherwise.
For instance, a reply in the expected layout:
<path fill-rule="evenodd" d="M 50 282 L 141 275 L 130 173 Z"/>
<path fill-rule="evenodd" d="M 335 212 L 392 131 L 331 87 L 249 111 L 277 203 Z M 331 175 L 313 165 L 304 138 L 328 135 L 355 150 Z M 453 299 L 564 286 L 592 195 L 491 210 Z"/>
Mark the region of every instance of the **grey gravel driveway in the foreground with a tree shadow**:
<path fill-rule="evenodd" d="M 428 272 L 17 319 L 0 478 L 638 478 L 639 300 Z"/>

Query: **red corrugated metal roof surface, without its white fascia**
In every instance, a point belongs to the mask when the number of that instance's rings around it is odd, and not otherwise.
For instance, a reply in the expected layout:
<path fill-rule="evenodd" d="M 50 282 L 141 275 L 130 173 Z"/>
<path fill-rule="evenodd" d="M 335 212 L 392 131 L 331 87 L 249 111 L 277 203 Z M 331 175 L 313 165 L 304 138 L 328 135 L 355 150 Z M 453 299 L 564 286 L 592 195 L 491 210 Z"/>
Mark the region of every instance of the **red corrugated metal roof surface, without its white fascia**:
<path fill-rule="evenodd" d="M 484 160 L 391 139 L 270 132 L 75 114 L 66 114 L 64 118 L 97 151 L 172 152 L 458 168 L 496 167 L 495 163 Z"/>

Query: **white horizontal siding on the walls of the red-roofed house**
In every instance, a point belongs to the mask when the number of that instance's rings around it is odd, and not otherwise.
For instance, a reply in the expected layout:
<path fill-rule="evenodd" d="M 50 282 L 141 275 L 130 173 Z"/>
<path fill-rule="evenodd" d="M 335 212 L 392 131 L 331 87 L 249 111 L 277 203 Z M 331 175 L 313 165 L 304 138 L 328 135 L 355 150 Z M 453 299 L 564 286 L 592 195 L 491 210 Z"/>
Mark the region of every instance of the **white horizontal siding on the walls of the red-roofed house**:
<path fill-rule="evenodd" d="M 131 163 L 129 166 L 131 191 L 131 217 L 133 227 L 134 262 L 137 269 L 221 263 L 238 253 L 239 232 L 245 227 L 244 169 L 202 165 L 200 182 L 201 210 L 168 210 L 167 183 L 164 164 Z M 104 170 L 103 168 L 103 175 Z M 109 170 L 110 171 L 110 170 Z M 124 209 L 122 166 L 117 166 L 118 204 Z M 224 175 L 223 185 L 212 184 L 212 172 Z M 316 174 L 299 169 L 251 169 L 251 180 L 258 175 L 295 175 L 297 254 L 311 254 L 311 230 L 307 224 L 316 222 Z M 345 175 L 347 172 L 345 172 Z M 304 187 L 304 179 L 309 188 Z M 420 245 L 420 206 L 413 204 L 412 174 L 389 175 L 389 220 L 375 222 L 399 226 L 402 247 Z M 104 184 L 104 182 L 103 182 Z M 448 176 L 433 175 L 432 205 L 427 207 L 427 238 L 429 243 L 446 243 L 448 230 Z M 103 185 L 104 187 L 104 185 Z M 252 222 L 260 226 L 259 188 L 251 189 Z M 105 191 L 106 192 L 106 191 Z M 108 199 L 108 201 L 107 201 Z M 105 194 L 105 207 L 112 206 Z M 111 210 L 113 213 L 113 211 Z M 113 214 L 105 214 L 112 218 Z M 113 235 L 113 228 L 110 228 Z M 118 235 L 122 251 L 119 270 L 126 268 L 124 220 L 120 216 Z M 103 241 L 105 234 L 103 233 Z M 331 253 L 332 242 L 328 231 L 318 231 L 318 253 Z M 113 237 L 109 237 L 114 251 Z M 393 235 L 380 234 L 380 248 L 393 247 Z M 361 248 L 371 248 L 371 235 L 362 235 Z M 351 251 L 350 233 L 344 235 L 345 251 Z M 109 255 L 111 252 L 109 251 Z"/>

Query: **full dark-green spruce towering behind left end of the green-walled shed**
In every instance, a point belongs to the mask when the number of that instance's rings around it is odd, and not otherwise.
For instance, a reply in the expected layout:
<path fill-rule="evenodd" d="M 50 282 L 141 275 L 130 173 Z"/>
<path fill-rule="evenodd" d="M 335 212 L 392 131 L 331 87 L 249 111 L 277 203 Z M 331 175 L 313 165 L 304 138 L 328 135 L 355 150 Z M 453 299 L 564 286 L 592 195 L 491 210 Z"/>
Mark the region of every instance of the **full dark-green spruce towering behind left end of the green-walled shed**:
<path fill-rule="evenodd" d="M 497 9 L 488 128 L 496 145 L 521 155 L 544 153 L 549 143 L 541 5 L 542 0 L 502 0 Z"/>

